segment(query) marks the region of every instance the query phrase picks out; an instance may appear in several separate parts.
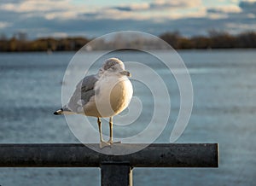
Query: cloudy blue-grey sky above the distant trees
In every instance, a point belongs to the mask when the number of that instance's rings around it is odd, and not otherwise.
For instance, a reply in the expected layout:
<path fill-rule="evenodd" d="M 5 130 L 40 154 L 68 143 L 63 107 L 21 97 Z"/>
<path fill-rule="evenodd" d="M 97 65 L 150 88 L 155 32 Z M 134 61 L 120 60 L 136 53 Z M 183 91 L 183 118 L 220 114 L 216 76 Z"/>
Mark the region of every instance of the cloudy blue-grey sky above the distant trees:
<path fill-rule="evenodd" d="M 210 30 L 256 32 L 256 0 L 0 0 L 0 34 L 100 37 L 109 32 L 191 37 Z"/>

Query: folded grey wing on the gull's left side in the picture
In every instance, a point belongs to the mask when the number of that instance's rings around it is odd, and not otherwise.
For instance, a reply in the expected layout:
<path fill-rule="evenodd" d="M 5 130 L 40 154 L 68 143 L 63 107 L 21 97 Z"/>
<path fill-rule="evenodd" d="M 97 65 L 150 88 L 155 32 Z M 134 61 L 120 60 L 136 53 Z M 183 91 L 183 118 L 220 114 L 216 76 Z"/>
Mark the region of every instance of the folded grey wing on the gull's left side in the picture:
<path fill-rule="evenodd" d="M 73 96 L 67 103 L 67 108 L 74 113 L 80 113 L 81 107 L 90 101 L 90 97 L 95 95 L 94 86 L 98 80 L 96 75 L 90 75 L 83 78 L 77 84 Z"/>

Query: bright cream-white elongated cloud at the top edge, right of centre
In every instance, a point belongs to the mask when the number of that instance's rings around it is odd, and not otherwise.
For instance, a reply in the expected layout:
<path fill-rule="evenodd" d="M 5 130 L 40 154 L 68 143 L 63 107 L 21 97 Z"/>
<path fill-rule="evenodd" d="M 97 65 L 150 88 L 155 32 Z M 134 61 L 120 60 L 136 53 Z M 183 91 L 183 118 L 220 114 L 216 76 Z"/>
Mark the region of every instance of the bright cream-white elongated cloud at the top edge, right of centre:
<path fill-rule="evenodd" d="M 95 15 L 96 19 L 134 19 L 160 21 L 165 19 L 179 19 L 183 17 L 198 17 L 206 15 L 204 8 L 200 7 L 201 0 L 186 1 L 153 1 L 148 3 L 129 3 L 119 6 L 96 9 L 90 18 Z M 192 10 L 191 10 L 192 9 Z M 86 15 L 86 14 L 84 14 Z"/>

